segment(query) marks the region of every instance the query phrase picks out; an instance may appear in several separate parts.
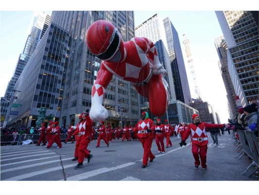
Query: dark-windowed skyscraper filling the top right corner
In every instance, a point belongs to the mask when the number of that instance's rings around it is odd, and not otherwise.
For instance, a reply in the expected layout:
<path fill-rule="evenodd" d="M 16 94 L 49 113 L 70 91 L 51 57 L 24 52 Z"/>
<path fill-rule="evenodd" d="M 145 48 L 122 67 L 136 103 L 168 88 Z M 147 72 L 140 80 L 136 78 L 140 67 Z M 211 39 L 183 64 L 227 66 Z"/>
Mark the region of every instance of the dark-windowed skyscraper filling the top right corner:
<path fill-rule="evenodd" d="M 258 11 L 215 11 L 226 44 L 227 67 L 242 106 L 259 98 Z"/>

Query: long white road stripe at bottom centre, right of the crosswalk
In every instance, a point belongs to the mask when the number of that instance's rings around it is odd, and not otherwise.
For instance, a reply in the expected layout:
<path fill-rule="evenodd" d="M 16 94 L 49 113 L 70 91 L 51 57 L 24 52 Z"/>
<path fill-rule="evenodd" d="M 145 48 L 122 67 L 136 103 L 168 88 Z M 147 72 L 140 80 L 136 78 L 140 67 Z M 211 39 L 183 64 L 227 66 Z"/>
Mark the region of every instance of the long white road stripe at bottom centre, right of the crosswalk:
<path fill-rule="evenodd" d="M 88 177 L 91 177 L 91 176 L 97 176 L 99 174 L 103 174 L 103 173 L 106 173 L 106 172 L 109 172 L 109 171 L 114 171 L 116 169 L 121 169 L 121 168 L 130 166 L 130 165 L 133 165 L 133 164 L 136 164 L 136 163 L 135 162 L 129 162 L 129 163 L 126 163 L 126 164 L 118 165 L 116 167 L 111 167 L 111 168 L 104 167 L 104 168 L 101 168 L 101 169 L 96 169 L 96 170 L 89 171 L 89 172 L 79 174 L 79 175 L 76 175 L 76 176 L 67 177 L 67 181 L 79 181 L 79 180 L 82 180 L 82 179 L 87 179 Z M 61 180 L 61 181 L 63 181 L 63 180 Z"/>

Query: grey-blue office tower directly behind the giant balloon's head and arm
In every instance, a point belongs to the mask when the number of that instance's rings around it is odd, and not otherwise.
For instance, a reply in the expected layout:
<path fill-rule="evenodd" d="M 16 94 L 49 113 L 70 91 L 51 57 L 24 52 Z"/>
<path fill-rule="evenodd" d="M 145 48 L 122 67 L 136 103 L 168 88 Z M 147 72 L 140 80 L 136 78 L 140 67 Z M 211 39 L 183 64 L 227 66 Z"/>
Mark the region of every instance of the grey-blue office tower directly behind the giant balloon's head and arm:
<path fill-rule="evenodd" d="M 91 91 L 100 69 L 101 60 L 86 47 L 87 28 L 96 20 L 112 22 L 121 33 L 123 41 L 134 37 L 133 11 L 54 11 L 52 22 L 70 34 L 69 61 L 64 95 L 60 112 L 60 124 L 78 123 L 78 116 L 91 108 Z M 139 119 L 138 93 L 132 84 L 113 76 L 106 88 L 103 106 L 108 110 L 105 125 L 121 126 L 136 123 Z M 94 124 L 98 125 L 98 124 Z"/>

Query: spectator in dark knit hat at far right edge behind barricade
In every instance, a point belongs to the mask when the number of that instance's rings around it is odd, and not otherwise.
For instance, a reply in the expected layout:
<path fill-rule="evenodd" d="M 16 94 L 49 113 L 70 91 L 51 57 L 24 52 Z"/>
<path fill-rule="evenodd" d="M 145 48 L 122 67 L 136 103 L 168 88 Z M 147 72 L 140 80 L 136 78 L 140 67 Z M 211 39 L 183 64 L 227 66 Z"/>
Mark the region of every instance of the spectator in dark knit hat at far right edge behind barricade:
<path fill-rule="evenodd" d="M 246 124 L 246 129 L 250 129 L 251 131 L 255 131 L 258 137 L 258 106 L 255 103 L 251 105 L 247 105 L 244 107 L 244 113 L 246 117 L 244 118 L 244 123 Z M 248 127 L 248 128 L 247 128 Z"/>

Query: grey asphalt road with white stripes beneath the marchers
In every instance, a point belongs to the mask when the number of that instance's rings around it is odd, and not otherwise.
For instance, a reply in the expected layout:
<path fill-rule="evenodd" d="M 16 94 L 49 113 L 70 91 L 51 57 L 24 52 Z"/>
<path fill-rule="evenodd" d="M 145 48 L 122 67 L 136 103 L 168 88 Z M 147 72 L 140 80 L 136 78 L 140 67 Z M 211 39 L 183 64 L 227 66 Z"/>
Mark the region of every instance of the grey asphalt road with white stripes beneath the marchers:
<path fill-rule="evenodd" d="M 151 150 L 155 159 L 148 163 L 147 168 L 141 168 L 143 148 L 136 140 L 124 142 L 121 142 L 121 139 L 112 140 L 109 147 L 102 140 L 100 148 L 95 148 L 97 141 L 92 141 L 88 149 L 91 150 L 93 158 L 88 164 L 86 159 L 84 167 L 78 170 L 74 169 L 77 162 L 71 160 L 74 157 L 75 143 L 62 142 L 62 148 L 56 148 L 54 143 L 50 149 L 31 144 L 1 146 L 0 180 L 1 182 L 63 181 L 62 183 L 94 181 L 93 184 L 97 185 L 97 189 L 106 183 L 104 181 L 135 181 L 132 186 L 131 182 L 126 184 L 127 187 L 124 189 L 126 191 L 147 183 L 155 184 L 150 186 L 151 189 L 153 187 L 156 189 L 156 185 L 178 185 L 176 181 L 254 181 L 258 184 L 257 177 L 248 177 L 249 171 L 253 168 L 243 175 L 252 161 L 248 156 L 242 156 L 241 159 L 235 157 L 238 152 L 235 151 L 232 135 L 226 132 L 218 139 L 219 144 L 216 145 L 209 137 L 207 170 L 202 170 L 201 167 L 198 170 L 194 169 L 190 138 L 187 139 L 187 146 L 181 148 L 180 140 L 171 137 L 173 147 L 166 148 L 165 154 L 157 152 L 154 139 Z M 193 182 L 187 183 L 193 184 Z"/>

